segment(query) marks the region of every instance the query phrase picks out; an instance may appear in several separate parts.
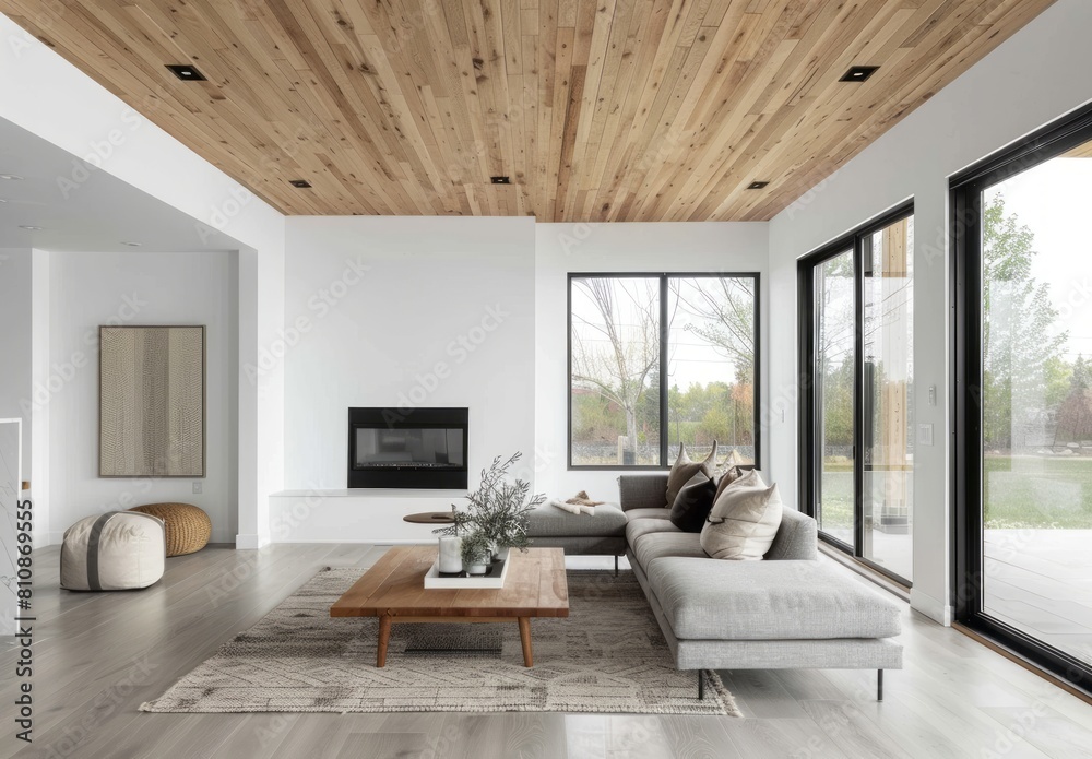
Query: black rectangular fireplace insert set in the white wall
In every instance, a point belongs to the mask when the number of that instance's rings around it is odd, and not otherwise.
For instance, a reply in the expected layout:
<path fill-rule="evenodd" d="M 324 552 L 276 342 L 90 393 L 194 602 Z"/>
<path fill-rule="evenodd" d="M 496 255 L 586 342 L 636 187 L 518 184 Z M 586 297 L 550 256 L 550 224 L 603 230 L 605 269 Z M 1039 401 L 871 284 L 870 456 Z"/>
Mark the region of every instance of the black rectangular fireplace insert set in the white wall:
<path fill-rule="evenodd" d="M 468 410 L 348 410 L 349 488 L 466 488 Z"/>

